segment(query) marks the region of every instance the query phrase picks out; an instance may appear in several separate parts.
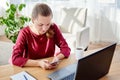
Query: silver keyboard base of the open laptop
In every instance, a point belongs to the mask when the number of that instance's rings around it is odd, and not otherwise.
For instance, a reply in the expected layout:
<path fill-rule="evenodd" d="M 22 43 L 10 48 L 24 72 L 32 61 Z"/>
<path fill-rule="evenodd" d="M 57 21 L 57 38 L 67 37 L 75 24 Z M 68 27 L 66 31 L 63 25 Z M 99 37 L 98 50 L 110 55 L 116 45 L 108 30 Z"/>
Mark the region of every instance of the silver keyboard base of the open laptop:
<path fill-rule="evenodd" d="M 48 75 L 51 80 L 73 80 L 77 64 L 71 64 Z"/>

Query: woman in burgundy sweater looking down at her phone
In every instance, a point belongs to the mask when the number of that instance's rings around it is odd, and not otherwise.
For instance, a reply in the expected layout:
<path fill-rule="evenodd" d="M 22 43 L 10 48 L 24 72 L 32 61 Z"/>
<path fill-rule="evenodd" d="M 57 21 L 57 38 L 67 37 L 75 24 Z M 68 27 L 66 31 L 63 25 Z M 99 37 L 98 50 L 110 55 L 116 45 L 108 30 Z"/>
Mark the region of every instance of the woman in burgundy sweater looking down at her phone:
<path fill-rule="evenodd" d="M 32 11 L 32 25 L 20 30 L 12 53 L 12 64 L 23 66 L 40 66 L 43 69 L 53 69 L 56 65 L 46 59 L 54 56 L 55 45 L 60 52 L 52 62 L 69 57 L 70 48 L 55 23 L 50 7 L 43 3 L 35 5 Z M 40 59 L 40 60 L 38 60 Z"/>

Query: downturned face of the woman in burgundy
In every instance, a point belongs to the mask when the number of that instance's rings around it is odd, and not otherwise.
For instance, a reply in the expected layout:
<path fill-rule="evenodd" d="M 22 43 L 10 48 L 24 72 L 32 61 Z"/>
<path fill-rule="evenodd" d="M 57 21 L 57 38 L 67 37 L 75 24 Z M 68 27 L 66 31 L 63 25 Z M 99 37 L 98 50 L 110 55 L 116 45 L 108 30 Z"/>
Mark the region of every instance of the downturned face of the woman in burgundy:
<path fill-rule="evenodd" d="M 39 34 L 44 34 L 50 28 L 52 16 L 39 15 L 36 19 L 33 19 L 33 27 Z"/>

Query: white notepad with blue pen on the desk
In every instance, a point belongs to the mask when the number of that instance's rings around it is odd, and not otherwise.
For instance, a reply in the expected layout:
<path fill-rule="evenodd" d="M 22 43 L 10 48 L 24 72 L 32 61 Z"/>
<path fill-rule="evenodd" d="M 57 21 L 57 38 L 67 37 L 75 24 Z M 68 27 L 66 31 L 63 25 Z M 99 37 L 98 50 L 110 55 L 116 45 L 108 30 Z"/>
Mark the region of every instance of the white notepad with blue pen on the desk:
<path fill-rule="evenodd" d="M 22 71 L 22 72 L 17 73 L 13 76 L 10 76 L 10 78 L 12 80 L 37 80 L 26 71 Z"/>

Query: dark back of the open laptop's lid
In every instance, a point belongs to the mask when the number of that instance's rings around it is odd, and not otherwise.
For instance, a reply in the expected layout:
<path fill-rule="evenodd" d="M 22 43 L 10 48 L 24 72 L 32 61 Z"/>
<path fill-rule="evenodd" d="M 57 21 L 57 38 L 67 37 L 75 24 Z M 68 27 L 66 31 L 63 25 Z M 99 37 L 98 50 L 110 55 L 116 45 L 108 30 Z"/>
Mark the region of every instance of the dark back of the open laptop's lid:
<path fill-rule="evenodd" d="M 98 80 L 110 69 L 116 43 L 102 48 L 78 61 L 74 80 Z"/>

